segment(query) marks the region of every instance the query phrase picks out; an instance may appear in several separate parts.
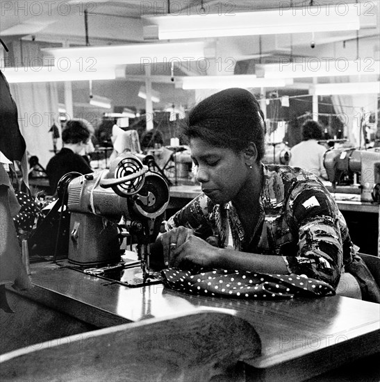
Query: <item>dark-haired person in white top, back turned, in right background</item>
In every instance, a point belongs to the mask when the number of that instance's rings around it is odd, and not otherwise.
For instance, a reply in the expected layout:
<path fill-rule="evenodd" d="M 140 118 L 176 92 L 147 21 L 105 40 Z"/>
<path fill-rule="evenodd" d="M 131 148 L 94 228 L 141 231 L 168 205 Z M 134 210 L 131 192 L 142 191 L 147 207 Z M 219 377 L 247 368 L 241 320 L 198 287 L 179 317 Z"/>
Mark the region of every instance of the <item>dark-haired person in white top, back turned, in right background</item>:
<path fill-rule="evenodd" d="M 289 165 L 300 167 L 327 179 L 327 172 L 323 165 L 326 147 L 319 144 L 318 140 L 322 140 L 322 126 L 312 120 L 306 121 L 302 125 L 302 142 L 290 149 Z"/>

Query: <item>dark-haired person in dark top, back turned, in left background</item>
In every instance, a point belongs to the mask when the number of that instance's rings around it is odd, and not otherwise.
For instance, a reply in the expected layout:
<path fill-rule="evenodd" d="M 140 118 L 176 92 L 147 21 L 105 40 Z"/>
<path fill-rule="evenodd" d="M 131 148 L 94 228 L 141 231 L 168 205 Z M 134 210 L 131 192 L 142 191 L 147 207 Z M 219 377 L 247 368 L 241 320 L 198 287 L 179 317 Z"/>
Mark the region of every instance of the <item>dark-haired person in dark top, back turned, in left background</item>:
<path fill-rule="evenodd" d="M 63 149 L 49 160 L 46 167 L 51 194 L 56 193 L 60 178 L 67 172 L 88 174 L 93 172 L 90 165 L 83 159 L 81 153 L 90 139 L 90 130 L 85 121 L 70 119 L 62 131 Z"/>

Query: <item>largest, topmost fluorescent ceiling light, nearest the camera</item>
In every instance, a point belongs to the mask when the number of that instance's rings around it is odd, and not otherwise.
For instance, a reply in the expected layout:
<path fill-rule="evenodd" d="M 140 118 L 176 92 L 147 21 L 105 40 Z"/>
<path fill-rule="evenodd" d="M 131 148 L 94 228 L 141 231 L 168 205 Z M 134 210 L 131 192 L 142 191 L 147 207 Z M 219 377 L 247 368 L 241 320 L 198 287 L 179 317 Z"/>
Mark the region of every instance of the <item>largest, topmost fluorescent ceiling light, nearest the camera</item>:
<path fill-rule="evenodd" d="M 144 27 L 144 38 L 156 37 L 159 40 L 357 31 L 361 26 L 358 8 L 355 4 L 348 5 L 343 1 L 342 4 L 335 6 L 318 5 L 315 7 L 301 6 L 300 8 L 290 6 L 289 1 L 280 1 L 280 6 L 276 10 L 145 16 L 144 19 L 147 24 L 150 24 Z M 155 26 L 158 34 L 156 36 L 154 36 Z"/>

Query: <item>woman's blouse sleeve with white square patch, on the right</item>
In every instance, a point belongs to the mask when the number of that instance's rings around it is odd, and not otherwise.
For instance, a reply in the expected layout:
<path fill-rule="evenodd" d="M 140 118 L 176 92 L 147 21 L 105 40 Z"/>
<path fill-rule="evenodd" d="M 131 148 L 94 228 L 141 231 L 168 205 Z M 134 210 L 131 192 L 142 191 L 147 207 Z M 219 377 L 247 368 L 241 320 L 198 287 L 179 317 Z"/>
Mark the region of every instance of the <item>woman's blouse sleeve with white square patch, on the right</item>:
<path fill-rule="evenodd" d="M 342 271 L 339 210 L 317 181 L 297 183 L 288 199 L 288 221 L 298 233 L 297 256 L 286 256 L 290 272 L 338 285 Z"/>

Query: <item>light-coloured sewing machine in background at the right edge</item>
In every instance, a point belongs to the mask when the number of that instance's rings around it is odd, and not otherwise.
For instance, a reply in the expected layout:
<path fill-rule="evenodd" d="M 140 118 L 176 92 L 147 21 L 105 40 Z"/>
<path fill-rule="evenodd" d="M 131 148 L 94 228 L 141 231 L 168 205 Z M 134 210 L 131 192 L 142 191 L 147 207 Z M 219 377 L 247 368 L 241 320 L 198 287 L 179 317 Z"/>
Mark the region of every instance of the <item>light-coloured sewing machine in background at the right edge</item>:
<path fill-rule="evenodd" d="M 337 185 L 361 190 L 361 201 L 380 202 L 380 148 L 329 149 L 324 154 L 324 167 L 333 188 Z"/>

